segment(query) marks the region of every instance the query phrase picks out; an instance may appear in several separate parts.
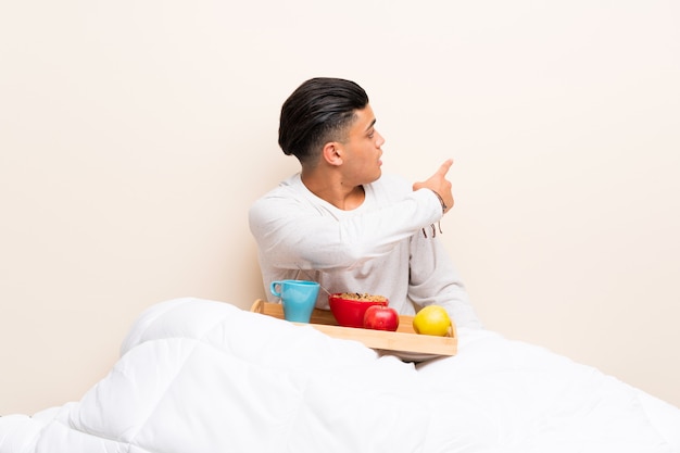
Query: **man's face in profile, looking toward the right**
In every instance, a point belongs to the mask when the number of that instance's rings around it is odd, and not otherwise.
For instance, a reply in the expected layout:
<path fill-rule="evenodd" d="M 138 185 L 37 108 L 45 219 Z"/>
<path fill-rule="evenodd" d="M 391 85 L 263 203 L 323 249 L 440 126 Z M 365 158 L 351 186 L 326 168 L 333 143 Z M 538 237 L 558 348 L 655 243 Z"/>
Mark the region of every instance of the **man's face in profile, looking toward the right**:
<path fill-rule="evenodd" d="M 342 167 L 344 183 L 358 186 L 373 183 L 382 171 L 382 143 L 385 139 L 375 128 L 376 117 L 370 105 L 355 111 L 356 119 L 349 127 L 347 139 L 342 142 Z"/>

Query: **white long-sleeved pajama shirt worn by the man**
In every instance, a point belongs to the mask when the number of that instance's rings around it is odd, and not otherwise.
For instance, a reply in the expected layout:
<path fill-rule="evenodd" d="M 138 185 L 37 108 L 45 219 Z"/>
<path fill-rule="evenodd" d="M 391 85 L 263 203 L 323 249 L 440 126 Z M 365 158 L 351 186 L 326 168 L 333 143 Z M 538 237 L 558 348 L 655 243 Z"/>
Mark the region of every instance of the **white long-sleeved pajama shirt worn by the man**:
<path fill-rule="evenodd" d="M 456 326 L 481 327 L 435 235 L 432 225 L 442 217 L 438 197 L 390 175 L 364 190 L 362 205 L 343 211 L 312 193 L 297 174 L 251 206 L 267 298 L 276 300 L 269 292 L 274 280 L 315 280 L 331 293 L 385 295 L 406 315 L 438 304 Z M 328 309 L 323 290 L 316 306 Z"/>

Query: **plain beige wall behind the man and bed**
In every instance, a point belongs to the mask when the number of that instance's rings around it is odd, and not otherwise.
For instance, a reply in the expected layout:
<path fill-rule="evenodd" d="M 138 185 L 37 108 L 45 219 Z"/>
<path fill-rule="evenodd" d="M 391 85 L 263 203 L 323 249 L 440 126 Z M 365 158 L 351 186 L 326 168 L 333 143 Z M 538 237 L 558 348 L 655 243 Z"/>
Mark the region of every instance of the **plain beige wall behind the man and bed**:
<path fill-rule="evenodd" d="M 490 329 L 680 405 L 680 7 L 0 3 L 0 414 L 77 400 L 136 316 L 263 295 L 278 110 L 366 88 L 385 169 L 452 156 L 441 239 Z"/>

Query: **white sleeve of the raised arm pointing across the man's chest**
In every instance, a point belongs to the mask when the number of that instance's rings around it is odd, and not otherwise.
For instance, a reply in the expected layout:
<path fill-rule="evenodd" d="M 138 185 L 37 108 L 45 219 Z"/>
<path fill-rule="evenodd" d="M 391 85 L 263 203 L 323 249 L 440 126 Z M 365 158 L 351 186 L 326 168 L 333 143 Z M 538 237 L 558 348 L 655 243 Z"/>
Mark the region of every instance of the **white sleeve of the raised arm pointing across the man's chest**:
<path fill-rule="evenodd" d="M 441 216 L 439 200 L 426 189 L 377 210 L 340 216 L 329 205 L 282 188 L 251 206 L 249 224 L 268 265 L 331 270 L 352 269 L 387 254 Z"/>

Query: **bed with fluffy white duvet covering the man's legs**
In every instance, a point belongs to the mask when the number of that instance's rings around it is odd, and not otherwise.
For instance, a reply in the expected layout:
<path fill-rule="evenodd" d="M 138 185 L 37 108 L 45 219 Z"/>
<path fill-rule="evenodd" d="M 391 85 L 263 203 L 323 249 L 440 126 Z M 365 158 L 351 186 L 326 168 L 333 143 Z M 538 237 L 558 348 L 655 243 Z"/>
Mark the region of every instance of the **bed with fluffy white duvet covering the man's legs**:
<path fill-rule="evenodd" d="M 0 417 L 0 453 L 680 452 L 680 410 L 489 330 L 455 356 L 381 355 L 177 299 L 131 327 L 80 401 Z"/>

